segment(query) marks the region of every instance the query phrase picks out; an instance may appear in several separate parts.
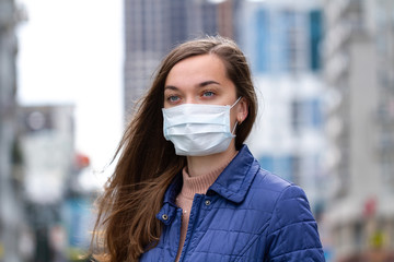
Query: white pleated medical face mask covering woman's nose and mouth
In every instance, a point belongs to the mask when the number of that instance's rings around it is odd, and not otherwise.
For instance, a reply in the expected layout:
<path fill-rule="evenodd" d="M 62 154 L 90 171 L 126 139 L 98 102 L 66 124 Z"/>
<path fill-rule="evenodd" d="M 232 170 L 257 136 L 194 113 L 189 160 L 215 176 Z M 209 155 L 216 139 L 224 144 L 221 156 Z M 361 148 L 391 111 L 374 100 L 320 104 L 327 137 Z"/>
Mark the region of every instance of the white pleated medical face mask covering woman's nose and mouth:
<path fill-rule="evenodd" d="M 175 146 L 177 155 L 205 156 L 224 152 L 235 136 L 236 123 L 230 128 L 232 106 L 184 104 L 163 108 L 164 138 Z"/>

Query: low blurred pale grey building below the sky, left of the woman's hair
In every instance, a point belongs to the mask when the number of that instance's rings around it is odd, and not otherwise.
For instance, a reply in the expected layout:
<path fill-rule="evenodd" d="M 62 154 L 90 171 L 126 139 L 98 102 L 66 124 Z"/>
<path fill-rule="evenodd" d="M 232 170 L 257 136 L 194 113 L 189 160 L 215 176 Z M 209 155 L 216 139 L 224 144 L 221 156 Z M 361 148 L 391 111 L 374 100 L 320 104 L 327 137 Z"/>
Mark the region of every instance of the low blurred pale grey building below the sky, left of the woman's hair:
<path fill-rule="evenodd" d="M 33 261 L 76 261 L 88 250 L 92 192 L 79 182 L 89 158 L 76 154 L 72 105 L 18 111 L 23 163 L 24 242 Z"/>

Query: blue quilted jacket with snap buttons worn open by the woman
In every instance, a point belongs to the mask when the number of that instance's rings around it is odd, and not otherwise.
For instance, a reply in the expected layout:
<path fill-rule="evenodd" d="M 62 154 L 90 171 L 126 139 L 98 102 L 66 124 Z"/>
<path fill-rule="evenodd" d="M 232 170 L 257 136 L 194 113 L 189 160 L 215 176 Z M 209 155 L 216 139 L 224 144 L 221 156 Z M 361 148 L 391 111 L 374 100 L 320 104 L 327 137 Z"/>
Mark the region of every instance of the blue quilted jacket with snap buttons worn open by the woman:
<path fill-rule="evenodd" d="M 177 176 L 157 215 L 164 224 L 160 241 L 140 261 L 175 260 L 181 188 Z M 262 169 L 244 145 L 207 194 L 195 195 L 179 261 L 308 262 L 324 261 L 324 255 L 304 192 Z"/>

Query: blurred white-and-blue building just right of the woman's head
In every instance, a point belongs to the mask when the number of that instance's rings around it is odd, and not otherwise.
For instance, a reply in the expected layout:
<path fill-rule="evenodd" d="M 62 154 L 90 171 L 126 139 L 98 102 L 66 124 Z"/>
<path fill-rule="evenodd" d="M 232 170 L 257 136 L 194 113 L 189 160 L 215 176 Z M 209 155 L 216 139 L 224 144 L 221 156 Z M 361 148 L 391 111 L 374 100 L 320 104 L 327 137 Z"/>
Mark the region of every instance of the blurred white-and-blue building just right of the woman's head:
<path fill-rule="evenodd" d="M 242 1 L 236 16 L 259 95 L 250 147 L 263 168 L 305 190 L 317 219 L 326 199 L 322 13 L 320 1 Z"/>

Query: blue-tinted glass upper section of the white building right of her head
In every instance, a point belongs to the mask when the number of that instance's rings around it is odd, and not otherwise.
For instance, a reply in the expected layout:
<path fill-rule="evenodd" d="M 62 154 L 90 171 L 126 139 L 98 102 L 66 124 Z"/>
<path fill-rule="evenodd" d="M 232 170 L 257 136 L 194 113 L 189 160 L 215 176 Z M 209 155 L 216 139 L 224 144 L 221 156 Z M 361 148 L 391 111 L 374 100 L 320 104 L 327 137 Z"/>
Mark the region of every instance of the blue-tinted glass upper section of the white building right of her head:
<path fill-rule="evenodd" d="M 255 73 L 318 71 L 322 23 L 321 10 L 306 13 L 288 9 L 270 10 L 264 7 L 256 10 L 253 36 Z M 309 45 L 302 40 L 304 38 Z M 304 62 L 305 57 L 310 60 Z"/>

